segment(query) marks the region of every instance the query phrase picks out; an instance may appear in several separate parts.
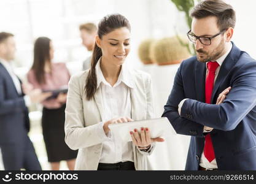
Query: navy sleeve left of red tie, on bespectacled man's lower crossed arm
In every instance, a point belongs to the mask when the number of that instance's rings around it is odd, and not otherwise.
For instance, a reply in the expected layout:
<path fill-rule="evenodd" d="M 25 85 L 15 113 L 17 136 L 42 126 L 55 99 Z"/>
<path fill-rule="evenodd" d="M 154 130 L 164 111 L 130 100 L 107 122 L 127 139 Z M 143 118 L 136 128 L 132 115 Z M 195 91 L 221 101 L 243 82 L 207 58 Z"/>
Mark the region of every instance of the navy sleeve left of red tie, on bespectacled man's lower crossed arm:
<path fill-rule="evenodd" d="M 180 67 L 176 73 L 173 89 L 171 90 L 171 94 L 169 95 L 168 101 L 165 105 L 165 111 L 163 112 L 162 117 L 168 118 L 178 134 L 203 137 L 204 126 L 200 125 L 200 123 L 196 123 L 196 121 L 191 121 L 184 117 L 180 117 L 178 112 L 179 102 L 186 98 L 184 94 L 181 70 L 182 64 L 180 64 Z"/>

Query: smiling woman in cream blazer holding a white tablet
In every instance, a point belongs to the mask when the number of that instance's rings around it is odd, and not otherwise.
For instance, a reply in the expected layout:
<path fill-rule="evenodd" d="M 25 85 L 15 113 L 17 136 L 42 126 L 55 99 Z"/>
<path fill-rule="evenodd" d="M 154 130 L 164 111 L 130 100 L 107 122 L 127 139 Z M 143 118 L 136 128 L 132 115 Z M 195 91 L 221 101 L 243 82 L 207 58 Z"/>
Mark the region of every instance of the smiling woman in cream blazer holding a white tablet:
<path fill-rule="evenodd" d="M 131 131 L 133 142 L 122 144 L 109 131 L 111 123 L 153 116 L 149 75 L 123 65 L 130 51 L 130 24 L 122 15 L 107 15 L 99 22 L 91 69 L 69 82 L 66 107 L 66 144 L 79 149 L 75 169 L 145 169 L 152 151 L 149 129 Z M 147 136 L 145 136 L 147 135 Z M 141 139 L 142 137 L 142 139 Z"/>

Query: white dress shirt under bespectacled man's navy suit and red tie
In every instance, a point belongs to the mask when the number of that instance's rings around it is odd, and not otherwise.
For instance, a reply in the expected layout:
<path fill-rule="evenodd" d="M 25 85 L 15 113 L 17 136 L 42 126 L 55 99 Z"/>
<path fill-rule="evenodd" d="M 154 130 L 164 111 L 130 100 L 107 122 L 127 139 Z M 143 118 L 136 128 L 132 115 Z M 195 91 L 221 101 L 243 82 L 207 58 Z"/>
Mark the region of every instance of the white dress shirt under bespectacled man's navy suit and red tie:
<path fill-rule="evenodd" d="M 219 64 L 219 67 L 217 67 L 217 69 L 216 69 L 216 71 L 215 71 L 214 84 L 215 84 L 215 80 L 217 79 L 217 76 L 218 76 L 218 74 L 219 74 L 220 67 L 222 66 L 222 63 L 223 63 L 223 61 L 225 60 L 225 58 L 227 57 L 228 53 L 230 53 L 231 48 L 232 48 L 232 44 L 231 44 L 231 42 L 230 42 L 230 45 L 229 45 L 229 47 L 228 47 L 227 52 L 226 52 L 224 55 L 222 55 L 219 59 L 216 60 L 216 62 Z M 209 72 L 208 67 L 207 67 L 207 63 L 208 63 L 208 62 L 206 62 L 206 76 L 207 76 L 207 74 L 208 74 L 208 72 Z M 178 107 L 179 115 L 180 115 L 180 112 L 181 112 L 181 109 L 182 109 L 182 105 L 184 104 L 185 100 L 186 100 L 186 99 L 183 99 L 183 100 L 180 101 L 180 103 L 179 103 L 179 107 Z M 210 131 L 204 130 L 204 132 L 210 132 Z M 208 159 L 206 159 L 206 157 L 204 156 L 204 151 L 203 151 L 203 153 L 202 153 L 202 155 L 201 155 L 200 166 L 201 166 L 201 167 L 204 167 L 204 168 L 206 168 L 206 169 L 217 169 L 217 168 L 218 168 L 218 167 L 217 167 L 217 163 L 216 163 L 216 159 L 212 160 L 211 163 L 210 163 L 210 162 L 208 161 Z"/>

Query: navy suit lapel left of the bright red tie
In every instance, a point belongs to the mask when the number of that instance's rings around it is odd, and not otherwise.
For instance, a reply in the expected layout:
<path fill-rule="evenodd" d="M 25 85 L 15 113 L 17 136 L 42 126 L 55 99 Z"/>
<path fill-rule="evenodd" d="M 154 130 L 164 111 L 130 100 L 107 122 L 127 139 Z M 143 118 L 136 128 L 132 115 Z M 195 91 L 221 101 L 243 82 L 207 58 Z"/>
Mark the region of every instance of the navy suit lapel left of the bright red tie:
<path fill-rule="evenodd" d="M 206 64 L 199 61 L 196 62 L 195 69 L 195 83 L 196 83 L 196 99 L 200 102 L 205 102 L 205 76 Z"/>

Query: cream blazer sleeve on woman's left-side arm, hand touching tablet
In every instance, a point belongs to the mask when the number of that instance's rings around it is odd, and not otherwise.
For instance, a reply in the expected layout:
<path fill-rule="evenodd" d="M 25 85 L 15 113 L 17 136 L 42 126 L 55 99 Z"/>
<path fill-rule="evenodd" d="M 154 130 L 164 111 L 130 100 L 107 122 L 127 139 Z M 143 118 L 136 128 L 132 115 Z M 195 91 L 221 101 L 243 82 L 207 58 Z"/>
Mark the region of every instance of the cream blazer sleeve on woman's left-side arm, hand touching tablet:
<path fill-rule="evenodd" d="M 83 100 L 80 89 L 79 76 L 71 77 L 65 110 L 65 142 L 72 150 L 101 144 L 108 138 L 104 135 L 103 124 L 85 126 L 83 118 Z M 102 131 L 99 132 L 101 126 Z"/>

